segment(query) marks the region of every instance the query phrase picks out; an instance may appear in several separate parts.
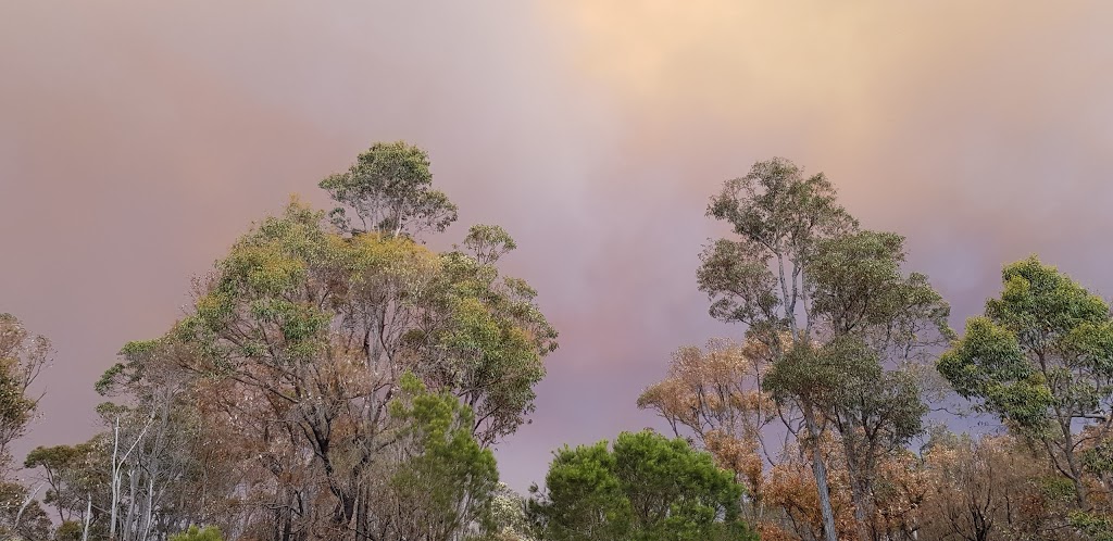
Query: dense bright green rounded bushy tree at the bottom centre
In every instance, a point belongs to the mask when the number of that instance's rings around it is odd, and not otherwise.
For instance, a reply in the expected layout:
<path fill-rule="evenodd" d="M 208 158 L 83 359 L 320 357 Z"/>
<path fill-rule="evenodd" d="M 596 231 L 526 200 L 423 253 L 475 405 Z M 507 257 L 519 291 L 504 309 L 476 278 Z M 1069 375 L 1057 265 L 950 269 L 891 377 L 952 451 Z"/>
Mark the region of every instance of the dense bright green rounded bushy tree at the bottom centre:
<path fill-rule="evenodd" d="M 543 539 L 757 539 L 739 519 L 742 488 L 681 439 L 624 432 L 554 453 L 530 512 Z"/>

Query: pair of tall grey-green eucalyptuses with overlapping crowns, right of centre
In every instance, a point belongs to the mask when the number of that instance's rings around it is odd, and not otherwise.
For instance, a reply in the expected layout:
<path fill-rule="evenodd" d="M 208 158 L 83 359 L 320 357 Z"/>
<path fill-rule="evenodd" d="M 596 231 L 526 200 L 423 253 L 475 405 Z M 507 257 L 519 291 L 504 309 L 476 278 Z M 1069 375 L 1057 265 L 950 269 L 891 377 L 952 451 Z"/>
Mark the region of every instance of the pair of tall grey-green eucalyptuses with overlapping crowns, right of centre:
<path fill-rule="evenodd" d="M 823 174 L 806 177 L 780 158 L 757 163 L 726 183 L 708 215 L 728 222 L 735 237 L 705 249 L 699 287 L 712 316 L 745 324 L 747 341 L 768 348 L 762 390 L 799 414 L 825 535 L 834 541 L 827 464 L 816 442 L 833 423 L 848 455 L 861 456 L 848 458 L 848 471 L 865 521 L 874 458 L 917 432 L 924 411 L 900 406 L 919 397 L 905 376 L 879 377 L 883 365 L 917 361 L 949 336 L 949 308 L 926 277 L 900 270 L 904 239 L 859 230 Z"/>

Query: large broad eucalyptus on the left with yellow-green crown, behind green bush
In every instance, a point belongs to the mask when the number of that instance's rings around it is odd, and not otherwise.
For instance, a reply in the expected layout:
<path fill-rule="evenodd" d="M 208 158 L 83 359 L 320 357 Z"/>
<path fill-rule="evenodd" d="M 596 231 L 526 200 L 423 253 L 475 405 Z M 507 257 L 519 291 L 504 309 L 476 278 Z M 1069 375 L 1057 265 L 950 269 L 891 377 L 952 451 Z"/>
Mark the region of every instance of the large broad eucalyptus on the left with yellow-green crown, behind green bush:
<path fill-rule="evenodd" d="M 500 273 L 499 258 L 515 247 L 502 228 L 473 227 L 445 253 L 421 244 L 456 213 L 431 180 L 423 150 L 375 145 L 321 184 L 354 214 L 328 220 L 293 201 L 264 219 L 156 341 L 188 375 L 205 430 L 227 437 L 228 460 L 247 472 L 250 490 L 237 489 L 237 500 L 270 513 L 221 524 L 229 534 L 412 539 L 396 524 L 377 527 L 396 511 L 383 483 L 401 468 L 413 422 L 391 406 L 406 373 L 461 403 L 469 413 L 454 422 L 466 421 L 481 449 L 532 411 L 556 333 L 536 292 Z M 453 509 L 467 515 L 467 505 Z M 270 531 L 258 530 L 264 522 Z"/>

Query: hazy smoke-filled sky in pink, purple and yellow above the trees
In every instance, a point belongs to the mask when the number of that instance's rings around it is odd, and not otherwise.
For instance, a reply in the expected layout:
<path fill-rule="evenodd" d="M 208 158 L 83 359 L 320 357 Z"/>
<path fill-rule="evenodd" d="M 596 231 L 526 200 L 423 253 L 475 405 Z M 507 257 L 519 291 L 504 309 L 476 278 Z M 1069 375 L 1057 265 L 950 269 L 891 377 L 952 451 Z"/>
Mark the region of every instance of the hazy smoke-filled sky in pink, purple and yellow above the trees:
<path fill-rule="evenodd" d="M 375 141 L 429 150 L 561 333 L 505 481 L 659 425 L 636 406 L 712 321 L 722 181 L 824 171 L 954 306 L 1038 254 L 1113 295 L 1109 2 L 105 0 L 0 3 L 0 312 L 56 348 L 17 447 L 83 441 L 92 383 L 190 279 Z"/>

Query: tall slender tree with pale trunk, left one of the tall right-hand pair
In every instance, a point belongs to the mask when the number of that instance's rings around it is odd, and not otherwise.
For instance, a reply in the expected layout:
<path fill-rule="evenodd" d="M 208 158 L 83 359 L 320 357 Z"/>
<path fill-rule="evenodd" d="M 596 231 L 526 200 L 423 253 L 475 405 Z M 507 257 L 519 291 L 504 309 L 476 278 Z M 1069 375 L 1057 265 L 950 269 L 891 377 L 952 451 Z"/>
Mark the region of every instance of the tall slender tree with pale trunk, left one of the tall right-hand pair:
<path fill-rule="evenodd" d="M 823 175 L 805 177 L 782 158 L 759 161 L 741 178 L 728 180 L 711 198 L 708 215 L 729 223 L 736 239 L 719 239 L 702 254 L 700 291 L 711 301 L 710 313 L 747 325 L 747 335 L 766 344 L 777 362 L 797 343 L 811 338 L 811 285 L 804 273 L 815 244 L 853 232 L 855 220 L 836 203 L 836 191 Z M 812 440 L 821 432 L 819 412 L 807 395 L 800 411 Z M 812 468 L 828 541 L 835 541 L 835 515 L 827 465 L 814 445 Z"/>

